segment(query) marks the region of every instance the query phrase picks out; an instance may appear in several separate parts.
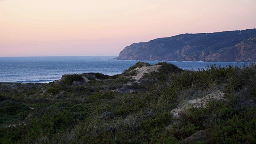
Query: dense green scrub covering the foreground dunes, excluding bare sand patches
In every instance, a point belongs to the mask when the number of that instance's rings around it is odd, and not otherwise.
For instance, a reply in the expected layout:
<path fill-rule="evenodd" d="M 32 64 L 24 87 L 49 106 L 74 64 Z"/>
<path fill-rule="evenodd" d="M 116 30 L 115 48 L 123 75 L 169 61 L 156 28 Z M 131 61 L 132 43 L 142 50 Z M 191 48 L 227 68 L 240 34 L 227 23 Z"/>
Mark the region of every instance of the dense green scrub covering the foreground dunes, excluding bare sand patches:
<path fill-rule="evenodd" d="M 256 66 L 66 75 L 49 84 L 0 84 L 0 143 L 255 143 Z M 134 72 L 133 72 L 134 71 Z M 133 73 L 130 75 L 130 73 Z M 82 80 L 90 80 L 88 82 Z M 184 102 L 225 93 L 205 108 Z"/>

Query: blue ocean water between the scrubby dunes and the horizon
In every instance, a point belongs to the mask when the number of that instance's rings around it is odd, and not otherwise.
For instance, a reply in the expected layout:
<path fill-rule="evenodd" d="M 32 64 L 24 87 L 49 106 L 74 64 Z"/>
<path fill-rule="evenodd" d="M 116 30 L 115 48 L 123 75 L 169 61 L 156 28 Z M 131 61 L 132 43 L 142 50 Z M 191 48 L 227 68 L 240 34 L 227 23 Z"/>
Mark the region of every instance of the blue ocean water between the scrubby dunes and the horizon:
<path fill-rule="evenodd" d="M 117 56 L 43 56 L 43 57 L 0 57 L 0 82 L 48 83 L 58 80 L 63 74 L 100 72 L 121 74 L 138 60 L 112 60 Z M 162 61 L 143 61 L 157 64 Z M 226 66 L 242 65 L 238 62 L 174 62 L 184 70 L 206 68 L 210 64 Z"/>

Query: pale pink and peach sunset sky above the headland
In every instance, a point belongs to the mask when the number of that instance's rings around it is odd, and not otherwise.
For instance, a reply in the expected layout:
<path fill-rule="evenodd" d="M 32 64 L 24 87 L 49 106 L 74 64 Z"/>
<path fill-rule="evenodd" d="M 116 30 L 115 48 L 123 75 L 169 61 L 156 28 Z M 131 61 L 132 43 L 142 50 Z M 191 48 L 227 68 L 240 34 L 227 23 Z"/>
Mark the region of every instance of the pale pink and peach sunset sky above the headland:
<path fill-rule="evenodd" d="M 0 56 L 118 56 L 185 33 L 256 28 L 256 0 L 0 0 Z"/>

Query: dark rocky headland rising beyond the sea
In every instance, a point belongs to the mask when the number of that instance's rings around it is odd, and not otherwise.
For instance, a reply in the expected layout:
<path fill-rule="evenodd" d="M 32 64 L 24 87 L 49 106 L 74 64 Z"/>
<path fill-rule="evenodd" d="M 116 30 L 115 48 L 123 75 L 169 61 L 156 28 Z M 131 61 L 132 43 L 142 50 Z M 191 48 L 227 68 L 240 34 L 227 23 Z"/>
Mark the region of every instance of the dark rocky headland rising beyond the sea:
<path fill-rule="evenodd" d="M 157 38 L 126 46 L 114 59 L 256 62 L 256 29 Z"/>

